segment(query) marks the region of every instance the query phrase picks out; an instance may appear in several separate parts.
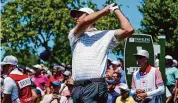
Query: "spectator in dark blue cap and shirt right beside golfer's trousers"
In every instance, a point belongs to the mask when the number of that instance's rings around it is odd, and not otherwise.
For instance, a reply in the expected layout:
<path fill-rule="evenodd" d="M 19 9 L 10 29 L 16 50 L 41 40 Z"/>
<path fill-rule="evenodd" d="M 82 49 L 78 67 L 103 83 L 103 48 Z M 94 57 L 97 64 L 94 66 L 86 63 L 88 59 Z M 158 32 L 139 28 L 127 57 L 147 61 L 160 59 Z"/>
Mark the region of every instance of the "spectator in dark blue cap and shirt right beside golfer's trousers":
<path fill-rule="evenodd" d="M 118 96 L 120 96 L 119 93 L 117 93 L 114 89 L 117 85 L 117 82 L 114 80 L 108 80 L 107 81 L 108 84 L 108 99 L 107 99 L 107 103 L 115 103 L 116 102 L 116 98 Z"/>

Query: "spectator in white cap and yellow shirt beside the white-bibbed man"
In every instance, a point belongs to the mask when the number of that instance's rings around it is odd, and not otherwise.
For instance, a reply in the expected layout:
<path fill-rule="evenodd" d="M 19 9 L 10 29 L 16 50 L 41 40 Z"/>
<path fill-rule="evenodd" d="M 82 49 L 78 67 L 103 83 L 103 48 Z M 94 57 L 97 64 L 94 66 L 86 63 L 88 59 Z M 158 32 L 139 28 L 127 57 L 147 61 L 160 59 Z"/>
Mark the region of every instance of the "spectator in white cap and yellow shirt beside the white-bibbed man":
<path fill-rule="evenodd" d="M 121 91 L 121 96 L 117 97 L 115 103 L 135 103 L 134 99 L 131 96 L 129 96 L 130 89 L 126 84 L 122 83 L 119 86 L 119 89 Z"/>

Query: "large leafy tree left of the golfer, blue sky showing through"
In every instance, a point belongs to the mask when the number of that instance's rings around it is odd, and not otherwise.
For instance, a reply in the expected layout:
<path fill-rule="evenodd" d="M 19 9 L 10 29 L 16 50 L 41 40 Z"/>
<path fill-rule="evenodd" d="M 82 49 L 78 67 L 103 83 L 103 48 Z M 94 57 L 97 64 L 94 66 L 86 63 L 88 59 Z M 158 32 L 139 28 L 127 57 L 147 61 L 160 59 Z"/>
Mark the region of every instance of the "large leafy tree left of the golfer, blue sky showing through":
<path fill-rule="evenodd" d="M 72 3 L 71 0 L 13 0 L 7 2 L 1 11 L 2 46 L 10 47 L 19 54 L 24 53 L 23 55 L 37 55 L 38 48 L 44 47 L 51 51 L 49 62 L 70 61 L 69 58 L 61 57 L 71 55 L 66 39 L 73 23 L 68 7 Z M 62 53 L 58 54 L 59 50 L 50 48 L 49 42 L 53 40 L 57 41 Z M 30 51 L 30 54 L 22 52 L 26 49 Z M 60 60 L 56 59 L 56 56 Z"/>

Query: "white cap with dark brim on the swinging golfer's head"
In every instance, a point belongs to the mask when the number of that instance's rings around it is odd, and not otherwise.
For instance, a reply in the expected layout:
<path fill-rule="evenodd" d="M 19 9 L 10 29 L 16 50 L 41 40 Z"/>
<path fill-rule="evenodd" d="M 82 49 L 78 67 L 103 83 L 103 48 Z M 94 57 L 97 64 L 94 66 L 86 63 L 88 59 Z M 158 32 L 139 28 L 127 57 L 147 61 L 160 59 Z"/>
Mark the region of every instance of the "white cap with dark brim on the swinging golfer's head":
<path fill-rule="evenodd" d="M 71 10 L 70 11 L 70 16 L 72 16 L 73 18 L 75 18 L 76 17 L 76 14 L 78 13 L 78 12 L 83 12 L 83 13 L 87 13 L 87 14 L 92 14 L 92 13 L 94 13 L 94 11 L 91 9 L 91 8 L 80 8 L 79 10 L 75 10 L 75 9 L 73 9 L 73 10 Z"/>

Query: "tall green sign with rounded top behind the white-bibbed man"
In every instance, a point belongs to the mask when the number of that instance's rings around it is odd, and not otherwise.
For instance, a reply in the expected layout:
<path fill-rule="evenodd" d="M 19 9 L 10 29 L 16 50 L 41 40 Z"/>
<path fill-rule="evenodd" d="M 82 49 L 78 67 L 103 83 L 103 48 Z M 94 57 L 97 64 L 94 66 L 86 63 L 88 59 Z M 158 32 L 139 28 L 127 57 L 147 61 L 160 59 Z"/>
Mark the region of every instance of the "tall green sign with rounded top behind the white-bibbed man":
<path fill-rule="evenodd" d="M 151 35 L 147 34 L 134 34 L 126 39 L 124 49 L 124 68 L 128 86 L 132 83 L 132 74 L 137 71 L 136 59 L 133 54 L 137 53 L 137 50 L 144 49 L 149 52 L 149 63 L 154 66 L 154 48 Z"/>

